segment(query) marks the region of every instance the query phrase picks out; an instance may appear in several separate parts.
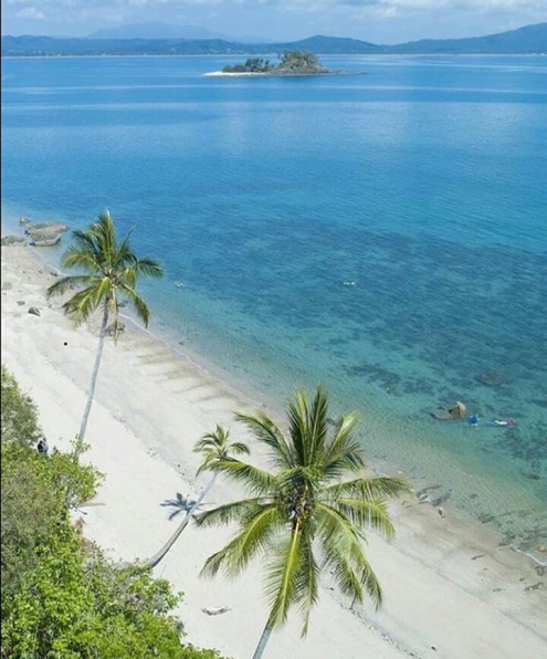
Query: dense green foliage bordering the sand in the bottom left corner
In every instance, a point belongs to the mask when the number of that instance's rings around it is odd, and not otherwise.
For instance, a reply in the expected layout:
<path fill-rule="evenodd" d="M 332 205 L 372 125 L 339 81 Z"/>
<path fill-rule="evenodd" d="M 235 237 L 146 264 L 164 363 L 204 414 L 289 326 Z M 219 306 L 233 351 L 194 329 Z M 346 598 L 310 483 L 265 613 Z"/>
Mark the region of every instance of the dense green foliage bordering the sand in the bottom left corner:
<path fill-rule="evenodd" d="M 101 474 L 74 452 L 39 453 L 36 410 L 2 367 L 2 659 L 215 659 L 181 645 L 180 599 L 147 568 L 116 568 L 73 525 L 66 490 Z"/>

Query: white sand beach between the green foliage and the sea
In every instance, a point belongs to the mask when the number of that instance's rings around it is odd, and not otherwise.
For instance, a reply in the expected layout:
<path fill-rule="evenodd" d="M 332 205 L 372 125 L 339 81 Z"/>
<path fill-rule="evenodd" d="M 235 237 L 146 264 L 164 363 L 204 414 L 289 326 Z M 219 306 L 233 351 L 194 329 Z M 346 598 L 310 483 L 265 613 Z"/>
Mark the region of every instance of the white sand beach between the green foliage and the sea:
<path fill-rule="evenodd" d="M 35 251 L 2 247 L 2 363 L 36 402 L 50 447 L 67 450 L 80 427 L 97 324 L 74 330 L 61 302 L 45 301 L 54 275 Z M 41 315 L 29 314 L 30 306 Z M 194 442 L 218 422 L 231 429 L 233 439 L 244 440 L 232 412 L 254 411 L 257 405 L 127 323 L 118 344 L 105 346 L 87 428 L 91 449 L 83 459 L 104 472 L 105 481 L 77 514 L 84 533 L 115 561 L 150 557 L 180 519 L 169 520 L 172 509 L 162 503 L 177 493 L 197 494 L 209 480 L 207 473 L 194 479 L 200 463 Z M 219 480 L 208 501 L 234 495 Z M 370 605 L 350 610 L 325 575 L 307 638 L 301 639 L 294 611 L 287 626 L 272 635 L 265 657 L 547 656 L 547 569 L 499 546 L 497 537 L 449 506 L 443 516 L 418 500 L 396 502 L 391 510 L 395 541 L 387 544 L 371 534 L 368 546 L 383 587 L 381 610 Z M 199 576 L 227 536 L 190 524 L 155 574 L 185 592 L 177 615 L 189 642 L 246 659 L 266 620 L 260 565 L 233 582 Z M 203 611 L 208 607 L 228 610 L 211 616 Z"/>

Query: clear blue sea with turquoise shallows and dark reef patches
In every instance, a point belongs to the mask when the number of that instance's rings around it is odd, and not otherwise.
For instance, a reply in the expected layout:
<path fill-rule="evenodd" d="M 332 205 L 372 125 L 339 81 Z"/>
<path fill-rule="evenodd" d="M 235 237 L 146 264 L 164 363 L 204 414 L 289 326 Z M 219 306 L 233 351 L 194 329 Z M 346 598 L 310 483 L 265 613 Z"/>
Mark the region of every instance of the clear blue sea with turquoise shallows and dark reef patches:
<path fill-rule="evenodd" d="M 3 232 L 109 209 L 173 348 L 278 410 L 322 383 L 375 469 L 546 545 L 547 57 L 204 75 L 240 61 L 2 60 Z"/>

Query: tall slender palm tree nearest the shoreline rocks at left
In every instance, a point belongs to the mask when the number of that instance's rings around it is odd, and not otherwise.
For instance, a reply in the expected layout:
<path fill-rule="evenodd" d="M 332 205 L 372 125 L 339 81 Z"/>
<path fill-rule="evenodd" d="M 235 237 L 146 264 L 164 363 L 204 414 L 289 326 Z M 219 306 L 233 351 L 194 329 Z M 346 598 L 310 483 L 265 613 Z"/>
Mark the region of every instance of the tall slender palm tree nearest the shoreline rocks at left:
<path fill-rule="evenodd" d="M 63 254 L 61 264 L 63 268 L 75 268 L 82 274 L 61 278 L 48 289 L 46 293 L 48 297 L 51 297 L 72 289 L 81 289 L 63 304 L 64 313 L 75 327 L 86 321 L 98 306 L 103 310 L 98 347 L 80 427 L 80 442 L 83 442 L 85 437 L 111 315 L 114 320 L 115 339 L 119 332 L 122 301 L 129 302 L 135 307 L 138 318 L 148 326 L 150 310 L 135 290 L 137 279 L 139 274 L 148 276 L 164 274 L 161 266 L 155 260 L 138 259 L 132 251 L 129 245 L 132 233 L 133 230 L 119 242 L 114 220 L 108 211 L 99 215 L 97 221 L 88 229 L 74 231 L 74 241 Z"/>

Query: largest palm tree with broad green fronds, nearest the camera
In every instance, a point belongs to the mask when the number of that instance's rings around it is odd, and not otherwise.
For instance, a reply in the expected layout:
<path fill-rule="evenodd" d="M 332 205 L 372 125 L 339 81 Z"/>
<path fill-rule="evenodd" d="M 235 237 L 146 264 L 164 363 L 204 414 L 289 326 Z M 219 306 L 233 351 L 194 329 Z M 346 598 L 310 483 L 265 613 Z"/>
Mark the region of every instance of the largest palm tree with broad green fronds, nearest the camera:
<path fill-rule="evenodd" d="M 368 593 L 377 608 L 381 605 L 381 587 L 362 548 L 365 529 L 391 538 L 386 499 L 408 492 L 409 485 L 399 478 L 364 475 L 355 412 L 332 428 L 327 408 L 322 387 L 312 405 L 296 391 L 286 433 L 263 411 L 236 414 L 266 448 L 272 471 L 234 459 L 217 462 L 217 471 L 243 484 L 250 496 L 196 516 L 201 526 L 238 523 L 233 538 L 206 561 L 202 574 L 222 568 L 233 577 L 254 557 L 265 563 L 270 614 L 253 659 L 262 657 L 272 630 L 294 605 L 304 615 L 302 636 L 307 634 L 323 569 L 345 595 L 362 602 Z M 357 478 L 343 480 L 346 474 Z"/>

